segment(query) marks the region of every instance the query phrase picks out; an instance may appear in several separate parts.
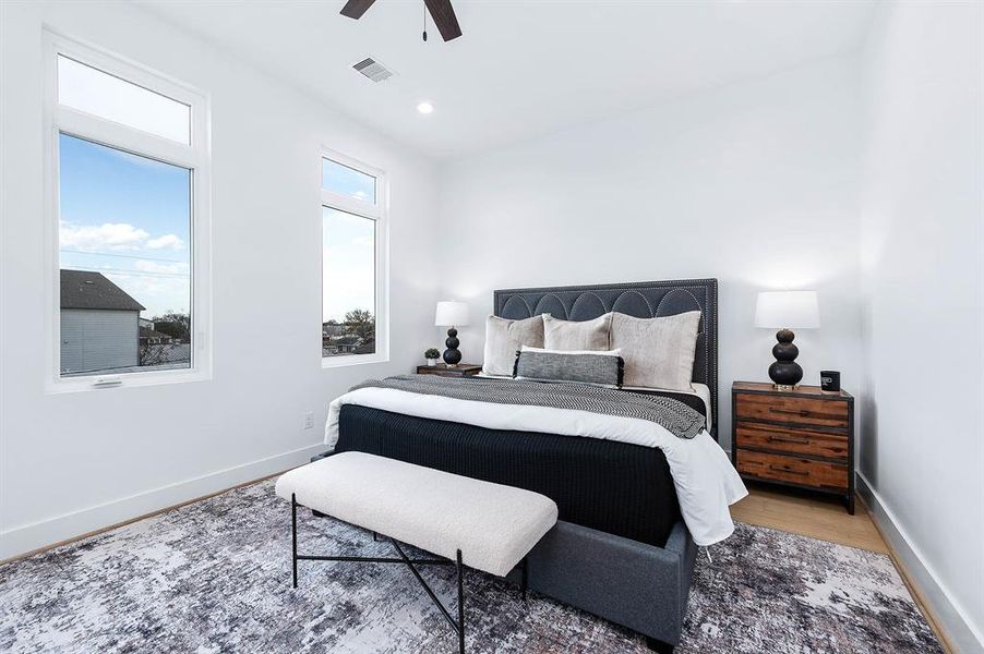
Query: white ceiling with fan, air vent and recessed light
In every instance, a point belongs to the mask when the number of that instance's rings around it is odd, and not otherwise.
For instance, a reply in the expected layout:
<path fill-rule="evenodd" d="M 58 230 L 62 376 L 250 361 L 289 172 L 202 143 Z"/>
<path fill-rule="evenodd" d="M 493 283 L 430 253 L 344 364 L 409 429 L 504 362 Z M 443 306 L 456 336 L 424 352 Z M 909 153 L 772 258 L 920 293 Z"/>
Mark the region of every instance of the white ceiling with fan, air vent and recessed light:
<path fill-rule="evenodd" d="M 444 43 L 422 0 L 144 0 L 158 15 L 435 158 L 458 158 L 857 48 L 876 0 L 454 0 Z M 397 75 L 349 65 L 365 56 Z M 416 107 L 430 100 L 435 111 Z"/>

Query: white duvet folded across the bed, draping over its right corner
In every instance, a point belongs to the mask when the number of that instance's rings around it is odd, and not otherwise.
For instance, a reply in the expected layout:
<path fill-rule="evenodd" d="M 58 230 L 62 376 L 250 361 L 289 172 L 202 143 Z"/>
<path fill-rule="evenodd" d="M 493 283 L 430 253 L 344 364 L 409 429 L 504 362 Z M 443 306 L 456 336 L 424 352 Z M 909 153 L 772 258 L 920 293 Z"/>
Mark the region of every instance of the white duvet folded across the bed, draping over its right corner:
<path fill-rule="evenodd" d="M 328 407 L 325 445 L 329 448 L 338 441 L 338 415 L 345 404 L 490 429 L 543 432 L 658 447 L 670 464 L 684 522 L 694 542 L 701 546 L 712 545 L 731 535 L 734 523 L 728 507 L 748 494 L 724 451 L 706 431 L 692 439 L 684 439 L 659 424 L 635 417 L 551 407 L 476 402 L 392 388 L 360 388 L 345 393 Z"/>

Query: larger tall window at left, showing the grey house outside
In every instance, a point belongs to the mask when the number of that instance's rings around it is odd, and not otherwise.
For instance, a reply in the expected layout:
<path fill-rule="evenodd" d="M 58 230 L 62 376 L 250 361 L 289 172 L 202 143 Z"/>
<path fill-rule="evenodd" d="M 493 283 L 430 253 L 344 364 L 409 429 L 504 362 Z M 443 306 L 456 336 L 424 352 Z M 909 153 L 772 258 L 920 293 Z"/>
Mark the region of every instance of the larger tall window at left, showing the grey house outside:
<path fill-rule="evenodd" d="M 55 380 L 203 373 L 205 100 L 101 52 L 48 40 Z"/>

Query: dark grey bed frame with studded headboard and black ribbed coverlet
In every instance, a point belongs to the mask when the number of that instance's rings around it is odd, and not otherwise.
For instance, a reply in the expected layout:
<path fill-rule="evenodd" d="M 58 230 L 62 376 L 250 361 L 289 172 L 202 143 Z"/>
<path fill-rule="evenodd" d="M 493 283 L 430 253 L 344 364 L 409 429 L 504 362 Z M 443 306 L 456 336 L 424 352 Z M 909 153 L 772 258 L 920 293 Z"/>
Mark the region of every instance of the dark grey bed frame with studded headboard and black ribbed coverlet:
<path fill-rule="evenodd" d="M 708 416 L 717 439 L 717 280 L 499 290 L 494 313 L 589 320 L 699 310 L 693 382 L 675 397 Z M 625 390 L 619 392 L 653 392 Z M 363 451 L 547 495 L 560 520 L 530 554 L 530 588 L 638 631 L 661 651 L 679 642 L 697 545 L 664 451 L 549 429 L 495 429 L 357 403 L 337 414 L 334 451 Z M 715 447 L 717 447 L 715 445 Z"/>

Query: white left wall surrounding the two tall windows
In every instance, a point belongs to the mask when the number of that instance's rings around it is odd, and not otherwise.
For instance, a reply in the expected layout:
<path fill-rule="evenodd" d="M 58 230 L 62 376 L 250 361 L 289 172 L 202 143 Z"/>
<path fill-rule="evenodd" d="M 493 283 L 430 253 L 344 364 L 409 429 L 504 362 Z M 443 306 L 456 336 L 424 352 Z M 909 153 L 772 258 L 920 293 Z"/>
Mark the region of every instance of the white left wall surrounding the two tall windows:
<path fill-rule="evenodd" d="M 123 3 L 0 3 L 0 558 L 310 456 L 329 398 L 433 341 L 432 164 Z M 214 376 L 45 395 L 41 25 L 211 94 Z M 388 171 L 392 363 L 321 367 L 320 147 Z"/>

